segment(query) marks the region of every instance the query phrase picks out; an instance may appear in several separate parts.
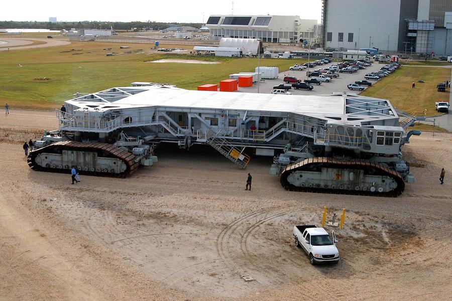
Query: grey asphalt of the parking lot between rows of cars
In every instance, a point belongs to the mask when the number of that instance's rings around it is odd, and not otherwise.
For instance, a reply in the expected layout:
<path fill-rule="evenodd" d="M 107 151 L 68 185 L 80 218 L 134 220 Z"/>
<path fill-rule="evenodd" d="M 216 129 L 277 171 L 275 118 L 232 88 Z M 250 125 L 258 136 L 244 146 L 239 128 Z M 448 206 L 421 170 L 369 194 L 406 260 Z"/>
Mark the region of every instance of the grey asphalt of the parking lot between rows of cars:
<path fill-rule="evenodd" d="M 332 62 L 325 65 L 320 65 L 315 68 L 310 68 L 310 71 L 313 71 L 314 69 L 318 68 L 327 68 L 332 65 L 336 65 L 337 62 Z M 371 66 L 366 67 L 365 69 L 360 69 L 355 73 L 337 73 L 339 75 L 338 78 L 332 79 L 330 82 L 322 82 L 320 85 L 312 85 L 314 87 L 313 90 L 307 91 L 307 90 L 295 90 L 291 89 L 289 90 L 292 95 L 322 95 L 322 94 L 331 94 L 333 92 L 343 92 L 348 91 L 352 92 L 347 88 L 347 85 L 350 83 L 355 83 L 355 81 L 358 80 L 364 80 L 364 75 L 367 73 L 371 73 L 374 71 L 379 70 L 384 64 L 378 64 L 373 63 Z M 271 67 L 271 66 L 268 66 Z M 259 93 L 271 93 L 273 86 L 279 85 L 283 83 L 284 76 L 295 76 L 302 81 L 307 79 L 306 76 L 306 69 L 301 71 L 290 71 L 286 70 L 279 73 L 279 77 L 277 79 L 266 79 L 263 82 L 259 83 Z M 369 80 L 370 82 L 374 83 L 375 80 Z M 291 85 L 291 84 L 289 84 Z M 364 86 L 367 88 L 367 86 Z M 240 92 L 251 92 L 251 93 L 257 93 L 258 92 L 258 85 L 254 84 L 252 87 L 239 87 Z M 359 93 L 360 91 L 354 90 L 353 93 Z"/>

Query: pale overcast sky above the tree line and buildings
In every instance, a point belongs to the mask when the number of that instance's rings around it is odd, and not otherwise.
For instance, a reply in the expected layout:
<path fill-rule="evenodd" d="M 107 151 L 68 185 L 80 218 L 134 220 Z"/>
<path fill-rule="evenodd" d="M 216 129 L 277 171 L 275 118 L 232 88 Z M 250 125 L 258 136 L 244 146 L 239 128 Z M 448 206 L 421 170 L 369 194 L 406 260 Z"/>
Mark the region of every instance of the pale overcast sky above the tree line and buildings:
<path fill-rule="evenodd" d="M 87 1 L 22 0 L 5 1 L 0 6 L 0 21 L 156 21 L 202 23 L 210 15 L 230 15 L 232 1 Z M 320 23 L 321 1 L 302 0 L 279 3 L 267 1 L 234 1 L 234 15 L 281 15 L 316 19 Z"/>

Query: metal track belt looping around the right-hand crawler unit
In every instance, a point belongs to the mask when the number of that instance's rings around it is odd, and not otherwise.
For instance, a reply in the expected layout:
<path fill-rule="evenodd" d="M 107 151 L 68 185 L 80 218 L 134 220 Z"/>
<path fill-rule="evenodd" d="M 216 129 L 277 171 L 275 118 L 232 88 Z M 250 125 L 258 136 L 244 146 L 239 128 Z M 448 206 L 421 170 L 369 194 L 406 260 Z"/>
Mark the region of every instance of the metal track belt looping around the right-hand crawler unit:
<path fill-rule="evenodd" d="M 308 170 L 312 165 L 320 165 L 320 166 L 329 166 L 335 168 L 344 168 L 344 169 L 364 169 L 369 170 L 372 168 L 373 170 L 378 171 L 379 175 L 388 176 L 395 180 L 397 183 L 397 187 L 393 191 L 389 192 L 371 192 L 368 191 L 356 191 L 349 189 L 331 189 L 324 187 L 299 187 L 290 184 L 287 180 L 287 177 L 296 171 Z M 362 196 L 380 196 L 380 197 L 397 197 L 405 190 L 405 182 L 400 176 L 398 172 L 392 170 L 386 166 L 375 162 L 369 162 L 366 160 L 360 159 L 352 159 L 352 160 L 337 160 L 328 157 L 317 157 L 317 158 L 309 158 L 304 161 L 300 161 L 291 165 L 286 166 L 286 168 L 282 171 L 280 176 L 281 185 L 284 189 L 289 191 L 301 191 L 301 192 L 314 192 L 314 193 L 332 193 L 332 194 L 348 194 L 348 195 L 362 195 Z"/>

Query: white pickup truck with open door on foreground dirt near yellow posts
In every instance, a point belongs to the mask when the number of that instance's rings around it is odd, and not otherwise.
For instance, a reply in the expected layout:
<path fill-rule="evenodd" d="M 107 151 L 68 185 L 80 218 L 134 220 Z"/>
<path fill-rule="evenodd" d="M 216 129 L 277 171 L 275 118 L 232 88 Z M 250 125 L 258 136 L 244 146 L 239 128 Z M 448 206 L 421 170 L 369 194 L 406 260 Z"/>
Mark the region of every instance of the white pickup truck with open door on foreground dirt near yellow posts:
<path fill-rule="evenodd" d="M 309 262 L 339 262 L 339 251 L 335 243 L 336 235 L 332 233 L 333 238 L 323 228 L 315 225 L 294 226 L 293 236 L 295 237 L 295 245 L 300 247 L 308 254 Z"/>

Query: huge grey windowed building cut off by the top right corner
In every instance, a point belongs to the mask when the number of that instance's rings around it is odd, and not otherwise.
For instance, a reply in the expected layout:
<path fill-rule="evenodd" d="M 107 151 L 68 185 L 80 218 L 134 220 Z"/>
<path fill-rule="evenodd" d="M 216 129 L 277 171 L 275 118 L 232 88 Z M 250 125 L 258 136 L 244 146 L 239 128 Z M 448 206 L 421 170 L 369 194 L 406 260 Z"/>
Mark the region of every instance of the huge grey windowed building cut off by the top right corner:
<path fill-rule="evenodd" d="M 322 24 L 324 48 L 452 53 L 450 0 L 323 0 Z"/>

